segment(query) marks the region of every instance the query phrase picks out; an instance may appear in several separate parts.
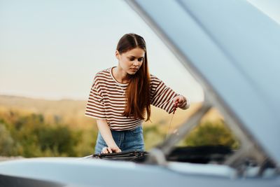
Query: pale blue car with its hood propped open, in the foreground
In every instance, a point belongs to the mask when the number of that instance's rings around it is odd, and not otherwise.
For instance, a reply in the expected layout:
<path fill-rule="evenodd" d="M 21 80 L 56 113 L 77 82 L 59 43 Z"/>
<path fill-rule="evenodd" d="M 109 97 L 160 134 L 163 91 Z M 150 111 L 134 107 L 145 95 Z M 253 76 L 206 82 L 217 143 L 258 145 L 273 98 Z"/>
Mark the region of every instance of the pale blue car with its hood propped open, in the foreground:
<path fill-rule="evenodd" d="M 247 1 L 128 1 L 201 83 L 205 102 L 145 162 L 31 158 L 0 163 L 0 184 L 280 186 L 280 26 Z M 222 164 L 167 160 L 211 107 L 241 141 Z M 253 160 L 253 165 L 250 160 Z M 54 182 L 54 183 L 50 183 Z"/>

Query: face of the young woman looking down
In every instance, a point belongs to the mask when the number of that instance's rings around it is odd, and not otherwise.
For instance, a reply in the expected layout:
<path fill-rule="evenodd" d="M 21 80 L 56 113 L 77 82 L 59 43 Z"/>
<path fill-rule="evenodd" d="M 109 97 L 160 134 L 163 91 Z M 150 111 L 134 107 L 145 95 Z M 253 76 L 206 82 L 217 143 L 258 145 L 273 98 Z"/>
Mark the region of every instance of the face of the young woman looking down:
<path fill-rule="evenodd" d="M 116 50 L 116 57 L 119 67 L 127 74 L 134 75 L 144 62 L 145 51 L 141 48 L 134 48 L 120 54 Z"/>

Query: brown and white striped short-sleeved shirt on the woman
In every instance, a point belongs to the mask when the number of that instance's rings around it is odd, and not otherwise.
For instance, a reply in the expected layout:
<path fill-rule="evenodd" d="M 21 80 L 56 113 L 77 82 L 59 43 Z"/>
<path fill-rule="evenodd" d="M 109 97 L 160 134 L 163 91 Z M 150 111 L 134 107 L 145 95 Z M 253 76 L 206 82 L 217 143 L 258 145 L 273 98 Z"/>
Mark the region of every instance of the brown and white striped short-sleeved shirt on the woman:
<path fill-rule="evenodd" d="M 125 90 L 128 83 L 118 83 L 112 74 L 113 67 L 99 71 L 88 97 L 85 116 L 106 119 L 111 130 L 134 130 L 144 120 L 123 116 L 125 111 Z M 163 81 L 151 74 L 151 104 L 168 113 L 174 111 L 173 98 L 177 94 Z"/>

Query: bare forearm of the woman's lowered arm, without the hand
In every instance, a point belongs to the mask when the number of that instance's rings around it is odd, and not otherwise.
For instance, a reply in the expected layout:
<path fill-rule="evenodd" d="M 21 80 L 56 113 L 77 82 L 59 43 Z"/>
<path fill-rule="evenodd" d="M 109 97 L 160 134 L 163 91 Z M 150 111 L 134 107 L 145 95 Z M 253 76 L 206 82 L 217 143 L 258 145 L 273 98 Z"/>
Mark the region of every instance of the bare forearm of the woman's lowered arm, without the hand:
<path fill-rule="evenodd" d="M 112 132 L 106 120 L 97 120 L 97 127 L 107 146 L 116 147 L 117 144 L 113 139 Z"/>

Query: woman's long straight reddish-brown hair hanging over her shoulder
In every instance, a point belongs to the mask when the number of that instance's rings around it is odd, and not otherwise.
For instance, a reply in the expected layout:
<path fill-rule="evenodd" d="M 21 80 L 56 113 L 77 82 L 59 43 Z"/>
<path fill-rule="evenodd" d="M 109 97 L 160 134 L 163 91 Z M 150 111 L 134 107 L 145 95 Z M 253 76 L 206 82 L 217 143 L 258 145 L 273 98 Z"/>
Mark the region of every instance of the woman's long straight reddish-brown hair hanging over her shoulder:
<path fill-rule="evenodd" d="M 145 51 L 145 56 L 140 69 L 136 74 L 130 76 L 130 81 L 127 85 L 126 106 L 123 115 L 126 117 L 141 118 L 144 120 L 145 109 L 147 113 L 147 120 L 151 116 L 151 100 L 150 100 L 150 73 L 148 71 L 148 59 L 146 42 L 143 37 L 129 33 L 125 34 L 118 41 L 117 50 L 120 54 L 132 50 L 134 48 L 141 48 Z"/>

